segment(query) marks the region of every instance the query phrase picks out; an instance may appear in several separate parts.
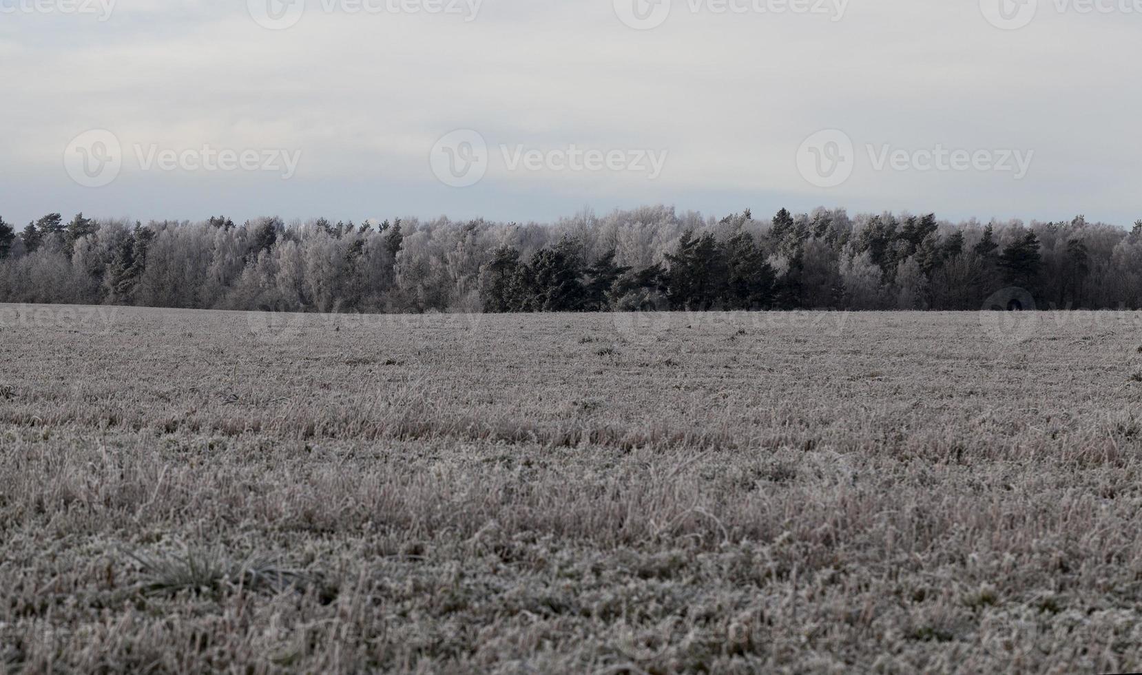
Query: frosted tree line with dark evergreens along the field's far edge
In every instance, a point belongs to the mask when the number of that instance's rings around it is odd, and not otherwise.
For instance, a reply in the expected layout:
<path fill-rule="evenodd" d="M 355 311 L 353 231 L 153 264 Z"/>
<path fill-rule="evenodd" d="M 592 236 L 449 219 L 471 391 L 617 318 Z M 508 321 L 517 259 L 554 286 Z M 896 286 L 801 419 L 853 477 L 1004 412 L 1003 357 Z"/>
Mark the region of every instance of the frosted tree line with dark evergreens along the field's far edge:
<path fill-rule="evenodd" d="M 670 207 L 554 224 L 0 218 L 0 302 L 296 312 L 1142 307 L 1142 220 L 754 218 Z"/>

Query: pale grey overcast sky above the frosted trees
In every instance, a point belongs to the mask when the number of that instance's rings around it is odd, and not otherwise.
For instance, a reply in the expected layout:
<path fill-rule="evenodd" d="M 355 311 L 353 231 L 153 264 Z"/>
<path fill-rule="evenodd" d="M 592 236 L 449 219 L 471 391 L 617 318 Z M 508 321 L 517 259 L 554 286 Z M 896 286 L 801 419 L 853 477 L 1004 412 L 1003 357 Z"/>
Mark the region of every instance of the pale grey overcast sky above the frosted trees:
<path fill-rule="evenodd" d="M 0 0 L 0 216 L 1127 226 L 1140 43 L 1142 0 Z"/>

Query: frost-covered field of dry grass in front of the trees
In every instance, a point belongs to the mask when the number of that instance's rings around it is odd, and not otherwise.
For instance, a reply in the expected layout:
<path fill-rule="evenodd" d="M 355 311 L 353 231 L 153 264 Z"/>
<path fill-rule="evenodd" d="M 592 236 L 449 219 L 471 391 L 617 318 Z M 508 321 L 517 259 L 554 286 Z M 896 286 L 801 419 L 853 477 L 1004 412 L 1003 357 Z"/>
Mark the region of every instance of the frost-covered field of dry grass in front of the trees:
<path fill-rule="evenodd" d="M 1142 668 L 1134 314 L 59 311 L 0 670 Z"/>

